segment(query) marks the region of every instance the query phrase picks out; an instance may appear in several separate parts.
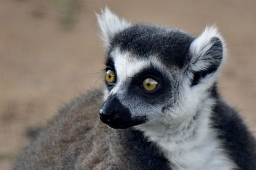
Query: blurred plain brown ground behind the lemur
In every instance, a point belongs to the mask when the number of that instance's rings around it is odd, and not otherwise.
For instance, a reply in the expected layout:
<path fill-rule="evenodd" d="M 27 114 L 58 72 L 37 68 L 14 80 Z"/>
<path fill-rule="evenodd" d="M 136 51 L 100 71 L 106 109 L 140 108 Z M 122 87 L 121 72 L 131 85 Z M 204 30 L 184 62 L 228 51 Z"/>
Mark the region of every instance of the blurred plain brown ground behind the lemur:
<path fill-rule="evenodd" d="M 0 0 L 0 169 L 12 168 L 28 129 L 102 84 L 95 12 L 106 5 L 131 22 L 195 35 L 216 24 L 228 48 L 220 90 L 256 131 L 256 1 Z"/>

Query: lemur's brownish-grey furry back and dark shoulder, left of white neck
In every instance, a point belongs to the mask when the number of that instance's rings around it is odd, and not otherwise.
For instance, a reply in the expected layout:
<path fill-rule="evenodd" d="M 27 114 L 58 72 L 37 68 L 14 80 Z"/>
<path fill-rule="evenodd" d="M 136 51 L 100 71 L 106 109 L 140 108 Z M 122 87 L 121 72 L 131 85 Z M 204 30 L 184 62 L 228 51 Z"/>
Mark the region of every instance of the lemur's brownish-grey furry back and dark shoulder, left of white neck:
<path fill-rule="evenodd" d="M 169 169 L 141 132 L 102 124 L 101 104 L 100 90 L 72 101 L 25 148 L 14 169 Z"/>

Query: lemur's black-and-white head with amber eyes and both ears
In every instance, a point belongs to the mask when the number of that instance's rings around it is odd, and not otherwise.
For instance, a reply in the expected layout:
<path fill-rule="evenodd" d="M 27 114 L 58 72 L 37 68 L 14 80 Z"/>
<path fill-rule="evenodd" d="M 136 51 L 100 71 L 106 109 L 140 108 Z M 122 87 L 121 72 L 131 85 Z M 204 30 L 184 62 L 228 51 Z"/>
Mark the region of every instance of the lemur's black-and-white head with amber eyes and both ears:
<path fill-rule="evenodd" d="M 108 8 L 97 18 L 107 53 L 102 122 L 119 129 L 193 117 L 223 62 L 217 29 L 207 27 L 195 38 L 180 29 L 130 24 Z"/>

